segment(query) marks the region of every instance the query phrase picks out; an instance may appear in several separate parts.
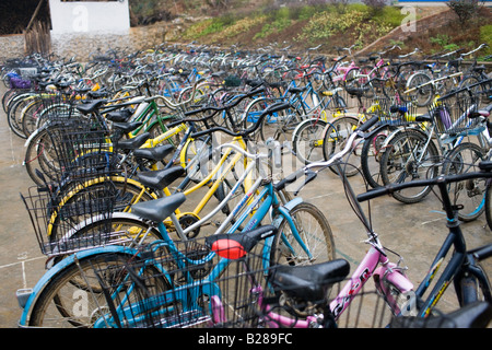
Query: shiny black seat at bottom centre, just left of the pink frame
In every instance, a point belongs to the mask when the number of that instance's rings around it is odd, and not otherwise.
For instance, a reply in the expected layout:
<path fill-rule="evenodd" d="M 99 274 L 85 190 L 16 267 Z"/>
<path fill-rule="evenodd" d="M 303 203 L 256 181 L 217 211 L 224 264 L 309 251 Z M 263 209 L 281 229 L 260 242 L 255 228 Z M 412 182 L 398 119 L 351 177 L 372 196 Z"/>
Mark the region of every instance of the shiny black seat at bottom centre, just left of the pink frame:
<path fill-rule="evenodd" d="M 326 298 L 327 290 L 342 281 L 350 272 L 344 259 L 308 266 L 281 265 L 274 269 L 270 282 L 290 296 L 317 302 Z"/>

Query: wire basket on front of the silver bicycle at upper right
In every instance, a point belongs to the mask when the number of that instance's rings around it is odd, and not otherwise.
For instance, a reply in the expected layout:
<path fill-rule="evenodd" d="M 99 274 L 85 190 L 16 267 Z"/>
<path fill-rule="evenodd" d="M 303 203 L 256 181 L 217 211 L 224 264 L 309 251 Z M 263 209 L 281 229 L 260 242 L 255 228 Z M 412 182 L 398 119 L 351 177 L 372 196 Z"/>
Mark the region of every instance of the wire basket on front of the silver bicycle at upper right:
<path fill-rule="evenodd" d="M 461 89 L 441 97 L 429 108 L 434 119 L 436 132 L 466 135 L 472 132 L 480 122 L 479 118 L 468 118 L 479 108 L 479 97 L 471 91 Z"/>

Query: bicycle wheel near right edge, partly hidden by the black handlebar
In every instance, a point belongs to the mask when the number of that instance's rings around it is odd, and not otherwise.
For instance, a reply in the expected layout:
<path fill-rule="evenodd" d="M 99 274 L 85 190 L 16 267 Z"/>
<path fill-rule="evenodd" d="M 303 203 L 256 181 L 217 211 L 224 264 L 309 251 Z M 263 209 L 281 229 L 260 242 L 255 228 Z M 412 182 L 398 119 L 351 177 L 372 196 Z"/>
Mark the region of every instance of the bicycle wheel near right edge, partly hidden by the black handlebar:
<path fill-rule="evenodd" d="M 487 159 L 485 151 L 478 144 L 464 142 L 456 147 L 443 165 L 444 175 L 478 172 L 478 163 Z M 449 185 L 449 197 L 455 206 L 462 206 L 458 211 L 461 221 L 472 221 L 485 209 L 485 178 L 468 179 Z"/>

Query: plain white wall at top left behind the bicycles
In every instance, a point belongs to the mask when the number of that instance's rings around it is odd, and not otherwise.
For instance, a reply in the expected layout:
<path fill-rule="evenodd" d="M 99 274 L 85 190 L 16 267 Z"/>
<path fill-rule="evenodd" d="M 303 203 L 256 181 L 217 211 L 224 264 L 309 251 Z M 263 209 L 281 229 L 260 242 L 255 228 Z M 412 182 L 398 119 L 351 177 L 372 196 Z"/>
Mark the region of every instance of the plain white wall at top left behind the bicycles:
<path fill-rule="evenodd" d="M 128 0 L 61 2 L 49 0 L 52 34 L 125 33 L 130 28 Z"/>

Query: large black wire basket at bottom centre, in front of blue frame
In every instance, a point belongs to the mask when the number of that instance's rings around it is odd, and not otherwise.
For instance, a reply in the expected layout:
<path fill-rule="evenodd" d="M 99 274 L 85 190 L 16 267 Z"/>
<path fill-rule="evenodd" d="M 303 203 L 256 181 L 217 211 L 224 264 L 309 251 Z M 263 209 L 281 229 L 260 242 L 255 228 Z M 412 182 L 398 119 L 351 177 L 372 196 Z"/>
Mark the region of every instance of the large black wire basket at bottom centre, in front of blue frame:
<path fill-rule="evenodd" d="M 176 250 L 154 242 L 130 260 L 94 264 L 87 273 L 93 273 L 105 295 L 104 305 L 101 299 L 93 303 L 94 314 L 101 315 L 94 327 L 256 325 L 266 287 L 262 255 L 250 252 L 238 259 L 221 260 L 203 238 L 175 244 Z"/>

